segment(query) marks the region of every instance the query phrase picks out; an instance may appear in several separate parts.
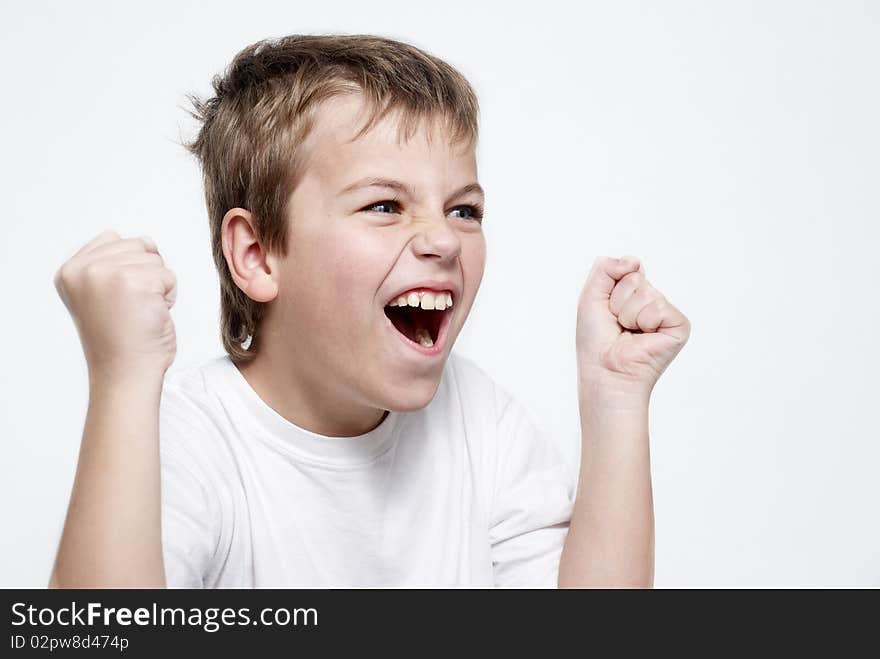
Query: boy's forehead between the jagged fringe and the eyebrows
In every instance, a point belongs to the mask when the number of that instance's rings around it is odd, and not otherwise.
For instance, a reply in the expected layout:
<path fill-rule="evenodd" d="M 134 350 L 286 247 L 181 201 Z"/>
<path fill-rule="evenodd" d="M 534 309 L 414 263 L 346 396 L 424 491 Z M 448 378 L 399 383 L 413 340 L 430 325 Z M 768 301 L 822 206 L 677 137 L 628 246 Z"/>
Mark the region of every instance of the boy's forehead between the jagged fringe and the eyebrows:
<path fill-rule="evenodd" d="M 473 145 L 452 144 L 438 120 L 422 121 L 405 140 L 400 116 L 389 113 L 369 132 L 353 140 L 367 119 L 360 95 L 329 99 L 317 109 L 314 127 L 306 138 L 309 154 L 305 177 L 340 188 L 359 176 L 381 175 L 400 179 L 418 172 L 448 178 L 476 178 Z"/>

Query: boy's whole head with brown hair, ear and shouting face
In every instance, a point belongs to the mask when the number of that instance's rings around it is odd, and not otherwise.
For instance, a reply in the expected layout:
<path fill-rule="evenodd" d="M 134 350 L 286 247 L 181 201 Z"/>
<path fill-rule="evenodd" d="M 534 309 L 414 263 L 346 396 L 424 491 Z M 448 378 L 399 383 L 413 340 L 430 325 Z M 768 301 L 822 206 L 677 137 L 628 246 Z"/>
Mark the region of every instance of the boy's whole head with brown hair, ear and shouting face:
<path fill-rule="evenodd" d="M 329 397 L 423 407 L 485 263 L 470 85 L 401 42 L 293 35 L 241 51 L 214 90 L 191 97 L 203 125 L 188 147 L 224 348 L 293 368 Z M 423 310 L 425 291 L 452 307 Z M 418 308 L 387 306 L 401 295 Z"/>

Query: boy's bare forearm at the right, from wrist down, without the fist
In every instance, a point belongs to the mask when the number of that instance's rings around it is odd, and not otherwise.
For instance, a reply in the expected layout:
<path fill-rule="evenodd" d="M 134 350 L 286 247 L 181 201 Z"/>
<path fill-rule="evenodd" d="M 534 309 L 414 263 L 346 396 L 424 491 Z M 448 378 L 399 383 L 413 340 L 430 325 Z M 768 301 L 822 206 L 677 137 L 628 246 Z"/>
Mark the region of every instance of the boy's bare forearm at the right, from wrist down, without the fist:
<path fill-rule="evenodd" d="M 580 395 L 582 453 L 577 495 L 559 564 L 559 587 L 650 587 L 654 506 L 648 397 Z"/>

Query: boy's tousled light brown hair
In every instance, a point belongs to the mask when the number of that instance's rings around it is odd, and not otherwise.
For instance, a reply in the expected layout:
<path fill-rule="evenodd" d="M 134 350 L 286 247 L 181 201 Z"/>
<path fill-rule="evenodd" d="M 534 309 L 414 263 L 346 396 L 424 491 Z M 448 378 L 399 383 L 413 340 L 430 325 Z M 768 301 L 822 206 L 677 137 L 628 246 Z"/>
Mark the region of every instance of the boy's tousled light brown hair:
<path fill-rule="evenodd" d="M 423 119 L 441 119 L 453 143 L 476 143 L 477 97 L 452 66 L 415 46 L 375 35 L 304 35 L 264 39 L 239 52 L 214 77 L 214 96 L 187 94 L 200 123 L 186 148 L 199 160 L 220 275 L 220 334 L 236 362 L 258 349 L 265 304 L 249 298 L 229 273 L 221 224 L 235 207 L 249 210 L 257 240 L 270 253 L 287 253 L 287 200 L 302 175 L 300 145 L 323 101 L 360 93 L 367 133 L 399 112 L 408 140 Z M 242 344 L 247 343 L 245 348 Z"/>

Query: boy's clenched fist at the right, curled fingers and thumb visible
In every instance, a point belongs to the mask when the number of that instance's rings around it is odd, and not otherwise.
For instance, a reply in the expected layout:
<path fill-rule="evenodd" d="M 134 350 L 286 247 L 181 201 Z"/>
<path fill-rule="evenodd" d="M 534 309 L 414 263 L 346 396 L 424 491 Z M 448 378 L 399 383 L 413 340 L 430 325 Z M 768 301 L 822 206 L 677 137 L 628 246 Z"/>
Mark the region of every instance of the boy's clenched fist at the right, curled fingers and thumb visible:
<path fill-rule="evenodd" d="M 684 314 L 645 278 L 638 257 L 600 256 L 578 302 L 579 382 L 647 398 L 690 329 Z"/>

